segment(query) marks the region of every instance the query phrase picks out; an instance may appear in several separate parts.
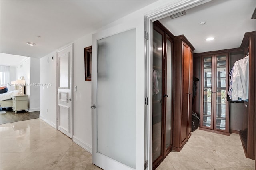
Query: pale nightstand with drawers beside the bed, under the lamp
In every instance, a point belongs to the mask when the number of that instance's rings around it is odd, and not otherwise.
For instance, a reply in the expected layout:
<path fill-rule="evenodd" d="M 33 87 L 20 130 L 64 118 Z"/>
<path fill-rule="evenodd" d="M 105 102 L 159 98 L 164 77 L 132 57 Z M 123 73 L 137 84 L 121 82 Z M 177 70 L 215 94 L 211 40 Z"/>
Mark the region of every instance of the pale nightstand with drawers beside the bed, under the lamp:
<path fill-rule="evenodd" d="M 28 111 L 28 95 L 16 95 L 12 97 L 12 110 L 17 111 Z"/>

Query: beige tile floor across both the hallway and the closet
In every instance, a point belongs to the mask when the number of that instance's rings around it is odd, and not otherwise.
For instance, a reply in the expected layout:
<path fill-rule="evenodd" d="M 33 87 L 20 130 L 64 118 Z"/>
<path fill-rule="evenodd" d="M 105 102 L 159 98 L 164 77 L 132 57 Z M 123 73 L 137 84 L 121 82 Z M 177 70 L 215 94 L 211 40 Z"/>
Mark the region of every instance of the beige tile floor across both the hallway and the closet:
<path fill-rule="evenodd" d="M 91 154 L 41 119 L 0 125 L 0 170 L 100 170 Z M 158 170 L 254 170 L 238 134 L 192 132 L 181 152 L 171 152 Z"/>

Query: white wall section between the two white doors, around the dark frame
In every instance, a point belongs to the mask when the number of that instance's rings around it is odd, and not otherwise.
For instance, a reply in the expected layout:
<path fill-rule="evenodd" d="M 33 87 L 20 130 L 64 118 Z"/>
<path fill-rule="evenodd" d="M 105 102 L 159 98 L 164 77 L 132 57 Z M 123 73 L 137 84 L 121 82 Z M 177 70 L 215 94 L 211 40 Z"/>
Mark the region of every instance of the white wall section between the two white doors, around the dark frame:
<path fill-rule="evenodd" d="M 84 36 L 74 42 L 74 142 L 86 150 L 92 150 L 91 81 L 85 81 L 84 48 L 92 45 L 92 35 Z M 89 137 L 90 136 L 90 137 Z"/>

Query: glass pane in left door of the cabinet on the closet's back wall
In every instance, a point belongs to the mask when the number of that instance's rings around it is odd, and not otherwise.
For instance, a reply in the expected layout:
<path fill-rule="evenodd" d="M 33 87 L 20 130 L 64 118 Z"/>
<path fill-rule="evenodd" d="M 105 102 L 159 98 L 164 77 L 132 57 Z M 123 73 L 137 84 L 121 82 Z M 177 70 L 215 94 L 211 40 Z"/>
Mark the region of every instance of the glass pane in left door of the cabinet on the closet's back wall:
<path fill-rule="evenodd" d="M 203 126 L 211 127 L 212 115 L 212 57 L 204 57 Z"/>

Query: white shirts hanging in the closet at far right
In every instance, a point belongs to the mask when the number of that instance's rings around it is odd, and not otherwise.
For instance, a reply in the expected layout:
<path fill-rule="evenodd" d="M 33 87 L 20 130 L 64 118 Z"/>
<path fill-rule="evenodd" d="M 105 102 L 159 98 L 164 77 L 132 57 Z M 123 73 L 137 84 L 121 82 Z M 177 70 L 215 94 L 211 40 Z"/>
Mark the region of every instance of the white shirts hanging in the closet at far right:
<path fill-rule="evenodd" d="M 249 99 L 249 55 L 236 61 L 232 69 L 231 100 L 248 101 Z M 229 91 L 230 94 L 230 91 Z"/>

